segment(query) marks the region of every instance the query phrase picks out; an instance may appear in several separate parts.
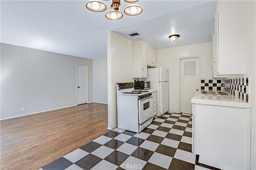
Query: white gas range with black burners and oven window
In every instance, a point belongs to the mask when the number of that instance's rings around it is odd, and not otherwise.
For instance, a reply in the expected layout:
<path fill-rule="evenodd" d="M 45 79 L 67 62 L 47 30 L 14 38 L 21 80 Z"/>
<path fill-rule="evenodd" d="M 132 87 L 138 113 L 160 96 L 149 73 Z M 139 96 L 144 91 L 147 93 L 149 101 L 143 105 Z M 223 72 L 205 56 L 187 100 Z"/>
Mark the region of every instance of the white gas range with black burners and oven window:
<path fill-rule="evenodd" d="M 152 93 L 134 90 L 134 83 L 117 83 L 118 128 L 139 133 L 153 121 Z"/>

